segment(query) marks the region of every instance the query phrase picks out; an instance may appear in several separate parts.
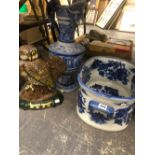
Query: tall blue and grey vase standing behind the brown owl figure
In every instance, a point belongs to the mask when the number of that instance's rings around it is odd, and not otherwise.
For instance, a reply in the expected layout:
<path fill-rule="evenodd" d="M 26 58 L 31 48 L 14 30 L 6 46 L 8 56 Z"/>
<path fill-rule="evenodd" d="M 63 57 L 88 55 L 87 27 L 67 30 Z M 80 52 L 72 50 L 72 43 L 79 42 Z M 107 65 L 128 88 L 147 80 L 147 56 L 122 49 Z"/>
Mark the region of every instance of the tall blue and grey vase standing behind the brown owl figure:
<path fill-rule="evenodd" d="M 58 41 L 49 46 L 49 51 L 67 64 L 67 71 L 57 81 L 57 87 L 65 92 L 73 91 L 78 86 L 77 70 L 82 64 L 85 48 L 75 43 L 74 33 L 78 22 L 83 18 L 85 4 L 86 0 L 81 0 L 71 6 L 54 6 L 60 32 Z"/>

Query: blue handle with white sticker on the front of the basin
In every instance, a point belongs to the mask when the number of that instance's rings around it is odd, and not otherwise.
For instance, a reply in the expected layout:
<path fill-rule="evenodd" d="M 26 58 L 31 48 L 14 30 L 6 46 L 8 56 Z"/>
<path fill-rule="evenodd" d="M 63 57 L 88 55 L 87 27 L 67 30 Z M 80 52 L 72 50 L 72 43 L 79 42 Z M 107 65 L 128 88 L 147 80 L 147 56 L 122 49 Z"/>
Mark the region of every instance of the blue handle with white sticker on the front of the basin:
<path fill-rule="evenodd" d="M 106 113 L 107 116 L 112 117 L 114 114 L 114 108 L 104 105 L 103 103 L 91 100 L 89 101 L 88 108 L 90 111 L 99 111 Z"/>

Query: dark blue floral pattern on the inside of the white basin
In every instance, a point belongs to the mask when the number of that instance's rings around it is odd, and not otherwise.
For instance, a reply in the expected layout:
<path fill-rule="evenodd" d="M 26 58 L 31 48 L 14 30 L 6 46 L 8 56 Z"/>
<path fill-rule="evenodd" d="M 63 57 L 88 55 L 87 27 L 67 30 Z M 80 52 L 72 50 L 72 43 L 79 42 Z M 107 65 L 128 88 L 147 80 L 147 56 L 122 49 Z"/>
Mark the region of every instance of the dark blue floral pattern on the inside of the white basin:
<path fill-rule="evenodd" d="M 94 58 L 95 59 L 95 58 Z M 82 67 L 81 73 L 81 81 L 83 84 L 87 85 L 87 82 L 90 81 L 92 71 L 97 70 L 98 75 L 101 77 L 106 77 L 110 81 L 120 81 L 123 85 L 128 85 L 128 83 L 131 83 L 131 98 L 134 98 L 134 89 L 135 89 L 135 69 L 130 68 L 126 69 L 125 64 L 121 63 L 121 60 L 113 61 L 113 60 L 108 60 L 105 63 L 102 62 L 101 60 L 95 59 L 93 63 L 88 67 L 84 65 Z M 132 76 L 132 79 L 129 79 Z M 79 79 L 79 75 L 78 75 Z M 129 81 L 130 80 L 130 81 Z M 81 82 L 80 82 L 81 83 Z M 99 85 L 99 84 L 97 84 Z M 96 86 L 97 86 L 96 85 Z M 119 98 L 125 98 L 124 96 L 119 95 L 117 92 L 117 89 L 111 88 L 111 87 L 105 87 L 102 86 L 102 89 L 91 89 L 91 91 L 97 92 L 98 94 L 105 95 L 107 97 L 114 96 L 114 97 L 119 97 Z M 92 88 L 94 88 L 92 86 Z M 89 89 L 89 88 L 88 88 Z M 109 92 L 109 93 L 108 93 Z"/>

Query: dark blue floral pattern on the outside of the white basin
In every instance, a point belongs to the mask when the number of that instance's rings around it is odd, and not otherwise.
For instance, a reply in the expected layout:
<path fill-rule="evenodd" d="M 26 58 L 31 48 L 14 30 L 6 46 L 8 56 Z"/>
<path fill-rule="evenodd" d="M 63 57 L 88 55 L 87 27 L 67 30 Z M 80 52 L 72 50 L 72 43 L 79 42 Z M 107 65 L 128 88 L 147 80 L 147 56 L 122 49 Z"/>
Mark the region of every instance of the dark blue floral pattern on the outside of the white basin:
<path fill-rule="evenodd" d="M 86 112 L 85 108 L 86 98 L 79 92 L 78 96 L 78 107 L 79 112 Z M 114 111 L 114 108 L 105 106 L 99 102 L 91 100 L 88 104 L 88 113 L 90 119 L 97 124 L 106 124 L 108 121 L 113 120 L 114 123 L 122 126 L 123 124 L 128 124 L 132 116 L 132 110 L 134 106 L 129 106 L 127 108 L 117 109 Z"/>

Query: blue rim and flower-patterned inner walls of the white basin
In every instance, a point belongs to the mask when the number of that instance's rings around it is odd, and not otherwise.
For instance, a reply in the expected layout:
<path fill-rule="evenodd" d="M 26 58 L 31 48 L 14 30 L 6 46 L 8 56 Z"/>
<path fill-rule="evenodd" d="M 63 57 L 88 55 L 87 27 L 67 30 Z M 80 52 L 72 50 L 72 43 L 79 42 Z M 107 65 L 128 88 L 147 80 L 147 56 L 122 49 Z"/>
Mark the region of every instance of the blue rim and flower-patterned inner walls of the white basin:
<path fill-rule="evenodd" d="M 103 58 L 103 59 L 101 59 Z M 108 60 L 109 59 L 109 60 Z M 109 98 L 113 100 L 128 102 L 134 100 L 134 68 L 128 68 L 128 63 L 120 59 L 95 57 L 88 60 L 90 64 L 84 65 L 77 79 L 82 89 L 89 91 L 96 96 Z M 92 61 L 93 60 L 93 61 Z M 127 63 L 127 64 L 126 64 Z M 129 66 L 132 64 L 129 63 Z M 111 81 L 120 81 L 123 85 L 131 85 L 131 96 L 125 97 L 119 95 L 118 90 L 103 86 L 102 88 L 93 89 L 87 85 L 93 76 L 93 71 L 98 71 L 99 76 L 106 77 Z M 133 79 L 131 79 L 133 78 Z M 101 87 L 101 86 L 100 86 Z"/>

